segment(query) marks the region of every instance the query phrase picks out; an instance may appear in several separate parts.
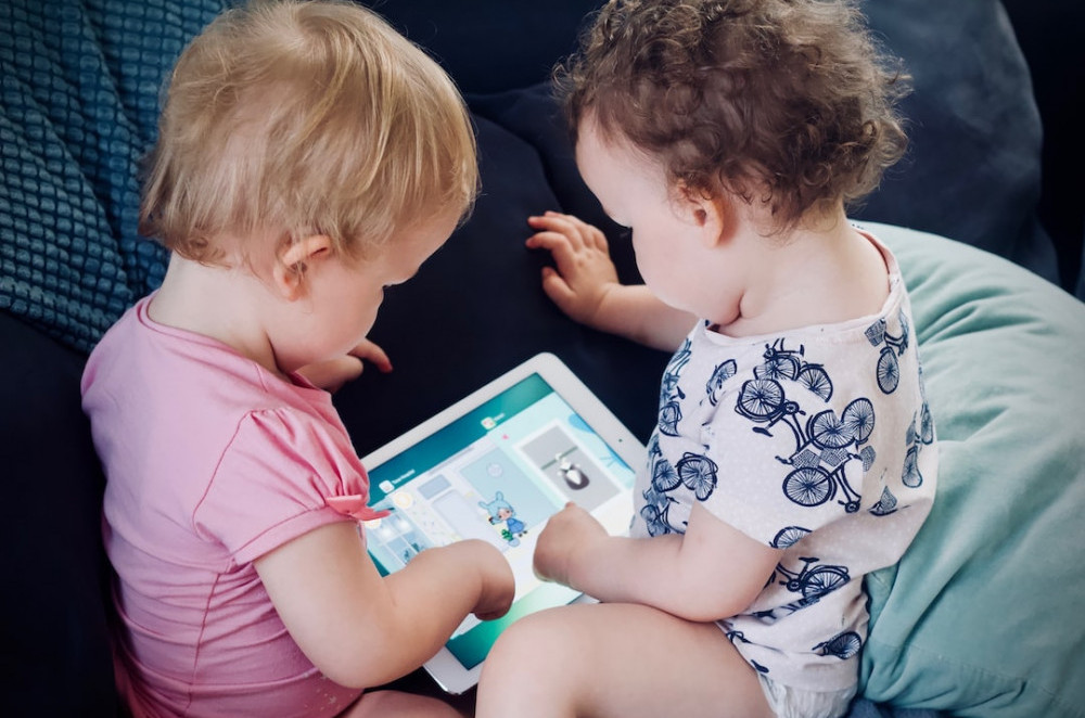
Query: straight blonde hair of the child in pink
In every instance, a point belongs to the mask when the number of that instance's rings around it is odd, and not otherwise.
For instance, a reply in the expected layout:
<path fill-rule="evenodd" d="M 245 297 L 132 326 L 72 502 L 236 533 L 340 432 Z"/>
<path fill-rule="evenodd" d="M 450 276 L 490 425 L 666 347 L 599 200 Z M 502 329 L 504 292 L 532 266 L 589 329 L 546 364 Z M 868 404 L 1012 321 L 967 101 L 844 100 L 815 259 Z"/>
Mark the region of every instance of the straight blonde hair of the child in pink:
<path fill-rule="evenodd" d="M 347 2 L 258 1 L 219 15 L 174 68 L 140 232 L 210 264 L 215 240 L 306 234 L 365 256 L 472 206 L 475 141 L 452 80 Z"/>

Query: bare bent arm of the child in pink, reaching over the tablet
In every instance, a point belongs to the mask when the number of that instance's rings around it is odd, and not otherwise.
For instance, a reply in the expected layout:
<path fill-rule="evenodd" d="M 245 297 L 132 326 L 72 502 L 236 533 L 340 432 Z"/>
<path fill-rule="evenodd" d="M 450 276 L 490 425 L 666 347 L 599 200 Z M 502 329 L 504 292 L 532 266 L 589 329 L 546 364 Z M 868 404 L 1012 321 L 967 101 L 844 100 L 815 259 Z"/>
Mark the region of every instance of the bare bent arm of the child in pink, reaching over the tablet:
<path fill-rule="evenodd" d="M 353 688 L 414 670 L 468 614 L 499 617 L 514 592 L 508 562 L 480 540 L 427 549 L 382 577 L 349 522 L 309 531 L 255 565 L 302 652 Z"/>

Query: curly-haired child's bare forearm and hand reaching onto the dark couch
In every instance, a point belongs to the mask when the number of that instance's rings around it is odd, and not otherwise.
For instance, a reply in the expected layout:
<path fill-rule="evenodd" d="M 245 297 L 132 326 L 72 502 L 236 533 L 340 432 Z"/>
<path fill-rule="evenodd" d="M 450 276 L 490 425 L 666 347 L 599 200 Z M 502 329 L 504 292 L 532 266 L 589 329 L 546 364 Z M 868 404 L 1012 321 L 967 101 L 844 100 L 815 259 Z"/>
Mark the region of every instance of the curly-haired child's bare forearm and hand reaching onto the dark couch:
<path fill-rule="evenodd" d="M 542 270 L 542 290 L 576 321 L 666 351 L 675 350 L 695 318 L 661 302 L 643 284 L 618 282 L 602 231 L 572 215 L 529 217 L 533 249 L 548 249 L 557 269 Z"/>

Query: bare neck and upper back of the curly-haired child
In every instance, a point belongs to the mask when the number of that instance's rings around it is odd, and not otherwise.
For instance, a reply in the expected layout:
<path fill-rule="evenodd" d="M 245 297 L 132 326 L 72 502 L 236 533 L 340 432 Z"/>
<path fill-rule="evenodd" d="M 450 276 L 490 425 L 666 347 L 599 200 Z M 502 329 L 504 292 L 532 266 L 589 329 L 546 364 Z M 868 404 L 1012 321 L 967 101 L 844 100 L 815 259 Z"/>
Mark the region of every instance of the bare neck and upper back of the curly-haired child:
<path fill-rule="evenodd" d="M 739 302 L 730 336 L 835 324 L 877 313 L 889 295 L 885 260 L 843 210 L 786 240 L 756 238 L 760 257 Z"/>

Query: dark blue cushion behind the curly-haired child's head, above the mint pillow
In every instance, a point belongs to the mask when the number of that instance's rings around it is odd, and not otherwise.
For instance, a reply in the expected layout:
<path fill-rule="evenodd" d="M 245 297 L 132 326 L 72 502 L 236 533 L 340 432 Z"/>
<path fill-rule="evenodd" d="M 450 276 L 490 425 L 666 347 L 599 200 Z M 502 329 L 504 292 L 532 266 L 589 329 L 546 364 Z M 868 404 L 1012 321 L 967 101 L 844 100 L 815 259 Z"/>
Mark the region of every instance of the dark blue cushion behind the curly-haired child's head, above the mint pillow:
<path fill-rule="evenodd" d="M 1036 215 L 1043 126 L 1001 3 L 863 8 L 915 91 L 902 105 L 908 154 L 853 215 L 952 236 L 1057 283 L 1055 247 Z"/>

